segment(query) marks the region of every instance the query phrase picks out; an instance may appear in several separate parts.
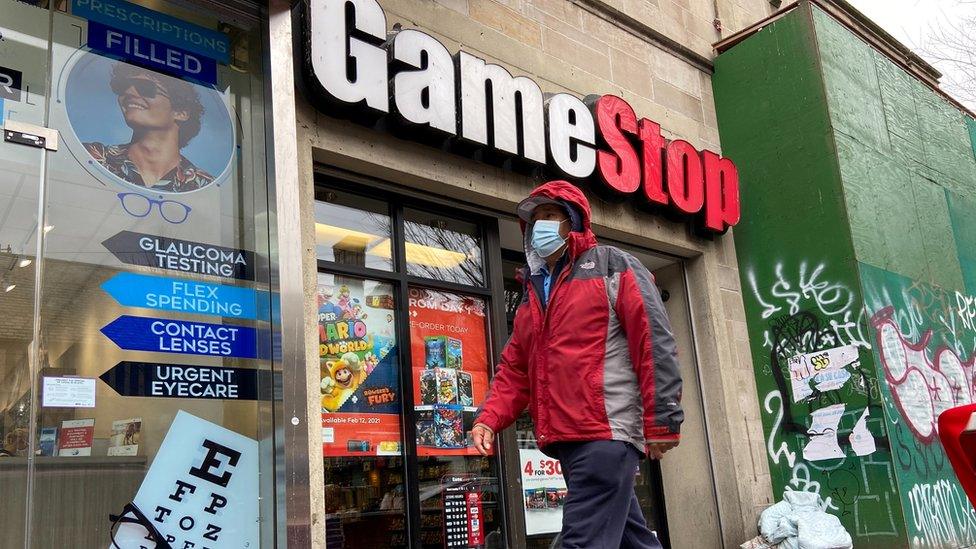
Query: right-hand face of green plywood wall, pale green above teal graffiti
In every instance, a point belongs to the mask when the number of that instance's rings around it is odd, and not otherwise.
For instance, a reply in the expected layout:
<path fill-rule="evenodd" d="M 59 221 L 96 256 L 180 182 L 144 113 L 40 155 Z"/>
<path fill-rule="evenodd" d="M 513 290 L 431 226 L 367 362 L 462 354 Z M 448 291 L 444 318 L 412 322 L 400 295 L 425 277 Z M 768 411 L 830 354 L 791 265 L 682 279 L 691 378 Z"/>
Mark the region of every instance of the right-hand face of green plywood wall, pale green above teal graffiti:
<path fill-rule="evenodd" d="M 976 511 L 934 419 L 976 389 L 971 122 L 828 14 L 813 16 L 908 541 L 968 547 Z"/>

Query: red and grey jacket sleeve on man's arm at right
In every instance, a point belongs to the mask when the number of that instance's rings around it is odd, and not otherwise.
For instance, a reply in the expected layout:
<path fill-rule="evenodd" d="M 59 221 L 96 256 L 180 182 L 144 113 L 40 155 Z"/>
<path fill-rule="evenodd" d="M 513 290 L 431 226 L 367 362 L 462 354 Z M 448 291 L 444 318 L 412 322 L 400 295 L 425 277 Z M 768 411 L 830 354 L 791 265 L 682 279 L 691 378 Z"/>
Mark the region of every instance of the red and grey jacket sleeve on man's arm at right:
<path fill-rule="evenodd" d="M 631 362 L 644 404 L 644 438 L 648 442 L 679 438 L 681 371 L 671 322 L 664 310 L 654 276 L 625 252 L 614 310 L 627 336 Z"/>

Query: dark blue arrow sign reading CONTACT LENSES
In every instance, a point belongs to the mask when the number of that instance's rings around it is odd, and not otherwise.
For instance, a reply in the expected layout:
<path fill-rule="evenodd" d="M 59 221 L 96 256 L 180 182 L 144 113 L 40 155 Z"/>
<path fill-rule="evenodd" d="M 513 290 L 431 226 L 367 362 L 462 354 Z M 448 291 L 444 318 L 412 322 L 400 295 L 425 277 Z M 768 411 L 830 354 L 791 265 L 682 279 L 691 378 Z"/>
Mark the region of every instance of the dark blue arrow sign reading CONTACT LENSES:
<path fill-rule="evenodd" d="M 258 358 L 258 333 L 248 326 L 123 315 L 102 333 L 128 351 Z"/>

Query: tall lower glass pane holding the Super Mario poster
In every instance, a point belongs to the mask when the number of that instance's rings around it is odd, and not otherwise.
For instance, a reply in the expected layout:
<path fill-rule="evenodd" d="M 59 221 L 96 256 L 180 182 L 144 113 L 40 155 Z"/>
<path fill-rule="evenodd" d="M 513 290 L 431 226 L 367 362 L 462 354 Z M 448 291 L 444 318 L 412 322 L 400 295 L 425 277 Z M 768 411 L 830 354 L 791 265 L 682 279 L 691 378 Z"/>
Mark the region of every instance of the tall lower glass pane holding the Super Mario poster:
<path fill-rule="evenodd" d="M 327 524 L 363 547 L 406 543 L 393 286 L 319 275 Z"/>

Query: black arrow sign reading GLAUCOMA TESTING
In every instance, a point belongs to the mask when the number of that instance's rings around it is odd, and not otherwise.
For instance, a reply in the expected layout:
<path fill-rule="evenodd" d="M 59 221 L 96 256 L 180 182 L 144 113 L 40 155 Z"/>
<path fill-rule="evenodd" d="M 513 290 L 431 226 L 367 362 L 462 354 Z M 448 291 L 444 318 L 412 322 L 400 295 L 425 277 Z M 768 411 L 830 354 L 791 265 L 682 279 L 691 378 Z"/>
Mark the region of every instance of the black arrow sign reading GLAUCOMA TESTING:
<path fill-rule="evenodd" d="M 254 252 L 122 231 L 102 246 L 127 265 L 254 280 Z"/>

